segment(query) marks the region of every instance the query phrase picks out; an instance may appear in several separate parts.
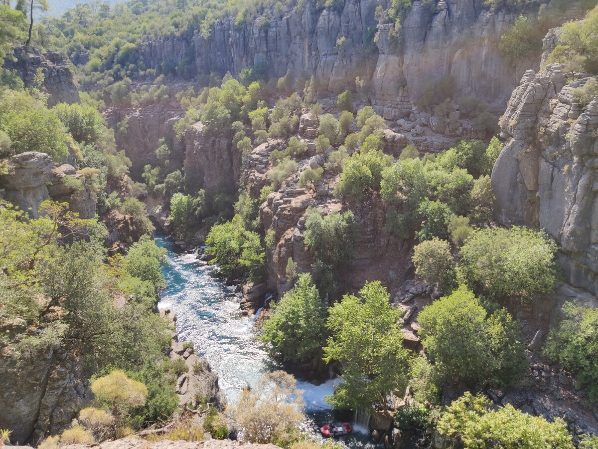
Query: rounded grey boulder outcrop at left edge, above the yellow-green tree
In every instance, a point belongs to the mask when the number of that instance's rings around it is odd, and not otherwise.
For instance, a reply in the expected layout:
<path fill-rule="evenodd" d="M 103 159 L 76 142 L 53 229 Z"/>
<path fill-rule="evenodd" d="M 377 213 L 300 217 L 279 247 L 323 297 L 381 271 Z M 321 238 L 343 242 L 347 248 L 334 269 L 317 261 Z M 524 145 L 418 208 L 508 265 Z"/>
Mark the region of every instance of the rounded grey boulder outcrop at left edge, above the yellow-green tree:
<path fill-rule="evenodd" d="M 4 198 L 36 218 L 39 205 L 50 199 L 46 183 L 52 180 L 52 165 L 50 156 L 37 151 L 12 156 L 7 174 L 0 175 Z"/>

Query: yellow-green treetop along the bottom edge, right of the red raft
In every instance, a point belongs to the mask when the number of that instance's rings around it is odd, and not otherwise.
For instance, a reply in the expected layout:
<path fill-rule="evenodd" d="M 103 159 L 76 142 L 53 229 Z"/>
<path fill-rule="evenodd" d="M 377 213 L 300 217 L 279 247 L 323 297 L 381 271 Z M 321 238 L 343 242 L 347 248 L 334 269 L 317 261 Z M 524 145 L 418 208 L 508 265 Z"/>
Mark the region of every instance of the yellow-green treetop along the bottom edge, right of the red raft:
<path fill-rule="evenodd" d="M 527 447 L 573 449 L 567 425 L 561 418 L 549 423 L 515 409 L 511 404 L 496 409 L 482 395 L 466 392 L 441 414 L 440 435 L 453 439 L 466 449 L 487 447 Z"/>

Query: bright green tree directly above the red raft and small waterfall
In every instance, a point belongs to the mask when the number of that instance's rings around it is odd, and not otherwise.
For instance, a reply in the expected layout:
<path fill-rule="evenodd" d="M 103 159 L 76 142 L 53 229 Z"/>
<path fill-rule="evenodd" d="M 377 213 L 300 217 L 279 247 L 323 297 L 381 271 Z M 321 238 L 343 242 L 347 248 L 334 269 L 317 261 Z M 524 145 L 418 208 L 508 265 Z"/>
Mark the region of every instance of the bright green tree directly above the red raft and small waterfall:
<path fill-rule="evenodd" d="M 343 383 L 326 400 L 340 409 L 368 409 L 374 403 L 386 409 L 386 396 L 407 380 L 410 353 L 397 324 L 401 312 L 390 308 L 379 281 L 365 283 L 359 296 L 344 295 L 329 309 L 332 336 L 324 360 L 342 363 Z"/>

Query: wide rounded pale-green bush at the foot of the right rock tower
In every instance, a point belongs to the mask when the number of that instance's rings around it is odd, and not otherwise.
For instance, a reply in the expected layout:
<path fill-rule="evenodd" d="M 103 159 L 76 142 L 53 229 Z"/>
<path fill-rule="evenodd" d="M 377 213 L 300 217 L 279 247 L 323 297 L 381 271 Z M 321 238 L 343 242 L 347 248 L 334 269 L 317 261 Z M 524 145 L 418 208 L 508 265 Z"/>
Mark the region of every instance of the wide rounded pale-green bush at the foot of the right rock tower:
<path fill-rule="evenodd" d="M 459 277 L 490 298 L 548 293 L 556 281 L 556 245 L 544 233 L 525 227 L 481 229 L 461 248 Z"/>

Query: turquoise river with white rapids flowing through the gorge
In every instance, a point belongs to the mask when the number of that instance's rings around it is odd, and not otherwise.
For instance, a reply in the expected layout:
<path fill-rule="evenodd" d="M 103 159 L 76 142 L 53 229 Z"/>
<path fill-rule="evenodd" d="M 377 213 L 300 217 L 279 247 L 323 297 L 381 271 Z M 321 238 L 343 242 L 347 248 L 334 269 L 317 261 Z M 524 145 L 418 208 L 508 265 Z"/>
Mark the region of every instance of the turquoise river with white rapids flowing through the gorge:
<path fill-rule="evenodd" d="M 176 313 L 176 329 L 181 341 L 193 341 L 197 353 L 205 357 L 218 375 L 219 386 L 229 402 L 237 401 L 247 384 L 255 386 L 271 363 L 255 338 L 255 317 L 239 313 L 239 298 L 213 277 L 213 268 L 199 262 L 194 254 L 177 253 L 173 241 L 155 236 L 158 246 L 166 248 L 168 265 L 163 273 L 167 287 L 160 293 L 159 307 Z M 317 429 L 335 417 L 324 401 L 334 390 L 334 381 L 315 386 L 297 381 L 304 390 L 307 426 Z M 352 435 L 337 439 L 347 448 L 373 448 L 365 429 L 357 426 Z"/>

